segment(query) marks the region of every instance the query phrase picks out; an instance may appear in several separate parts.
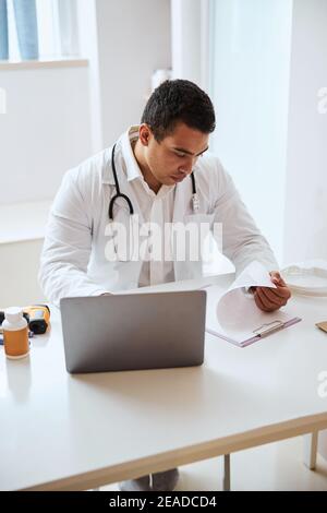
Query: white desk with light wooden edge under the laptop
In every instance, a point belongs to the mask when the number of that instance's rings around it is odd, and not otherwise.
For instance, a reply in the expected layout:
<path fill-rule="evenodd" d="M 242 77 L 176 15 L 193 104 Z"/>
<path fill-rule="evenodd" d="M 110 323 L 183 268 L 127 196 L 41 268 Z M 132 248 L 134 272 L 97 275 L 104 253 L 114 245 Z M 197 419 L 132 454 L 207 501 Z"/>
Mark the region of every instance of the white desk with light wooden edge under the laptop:
<path fill-rule="evenodd" d="M 247 348 L 207 336 L 203 367 L 75 377 L 52 312 L 28 359 L 0 349 L 0 489 L 95 488 L 327 428 L 327 301 L 294 305 L 301 323 Z"/>

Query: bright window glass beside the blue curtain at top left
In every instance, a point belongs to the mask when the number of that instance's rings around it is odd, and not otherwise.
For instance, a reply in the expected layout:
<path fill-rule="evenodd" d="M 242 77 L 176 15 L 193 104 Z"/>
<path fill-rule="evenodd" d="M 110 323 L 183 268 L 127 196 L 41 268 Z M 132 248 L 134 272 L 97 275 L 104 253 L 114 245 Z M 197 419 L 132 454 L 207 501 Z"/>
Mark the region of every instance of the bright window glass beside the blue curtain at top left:
<path fill-rule="evenodd" d="M 7 0 L 7 5 L 9 60 L 24 60 L 19 46 L 14 0 Z M 76 0 L 36 0 L 39 59 L 78 56 L 76 9 Z"/>

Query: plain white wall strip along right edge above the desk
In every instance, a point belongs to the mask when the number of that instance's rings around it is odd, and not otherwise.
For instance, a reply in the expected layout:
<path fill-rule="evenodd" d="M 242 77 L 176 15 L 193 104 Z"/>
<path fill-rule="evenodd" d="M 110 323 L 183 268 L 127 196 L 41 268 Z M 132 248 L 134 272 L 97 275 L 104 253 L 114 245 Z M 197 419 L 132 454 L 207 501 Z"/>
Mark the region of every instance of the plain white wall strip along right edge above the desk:
<path fill-rule="evenodd" d="M 327 2 L 294 0 L 284 215 L 286 262 L 327 259 Z"/>

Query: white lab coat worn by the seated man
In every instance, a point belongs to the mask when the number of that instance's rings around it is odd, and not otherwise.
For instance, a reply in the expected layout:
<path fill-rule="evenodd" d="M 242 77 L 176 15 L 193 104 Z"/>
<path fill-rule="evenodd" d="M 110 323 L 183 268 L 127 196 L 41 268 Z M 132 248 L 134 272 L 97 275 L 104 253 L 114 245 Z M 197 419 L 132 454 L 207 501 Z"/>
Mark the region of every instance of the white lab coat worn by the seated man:
<path fill-rule="evenodd" d="M 122 153 L 123 134 L 116 148 L 116 167 L 121 192 L 133 204 L 140 223 L 144 222 L 133 188 L 126 179 Z M 198 214 L 192 211 L 192 184 L 187 177 L 175 186 L 173 223 L 201 219 L 222 223 L 223 253 L 237 272 L 253 260 L 268 271 L 277 270 L 274 253 L 242 203 L 230 176 L 219 160 L 205 154 L 194 167 L 199 200 Z M 106 260 L 108 207 L 116 194 L 111 169 L 111 148 L 68 171 L 52 204 L 41 253 L 39 283 L 55 305 L 63 297 L 98 296 L 111 290 L 137 288 L 142 261 Z M 190 218 L 190 216 L 193 216 Z M 118 200 L 114 220 L 129 225 L 126 203 Z M 173 263 L 175 281 L 202 276 L 202 262 Z"/>

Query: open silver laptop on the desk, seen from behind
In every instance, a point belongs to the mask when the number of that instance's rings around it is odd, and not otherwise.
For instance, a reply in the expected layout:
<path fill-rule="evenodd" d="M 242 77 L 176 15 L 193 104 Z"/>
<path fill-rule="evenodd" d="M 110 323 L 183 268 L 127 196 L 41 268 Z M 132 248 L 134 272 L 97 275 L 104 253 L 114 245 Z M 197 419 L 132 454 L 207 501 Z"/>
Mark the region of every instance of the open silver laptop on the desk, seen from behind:
<path fill-rule="evenodd" d="M 205 290 L 64 298 L 60 310 L 71 373 L 203 363 Z"/>

